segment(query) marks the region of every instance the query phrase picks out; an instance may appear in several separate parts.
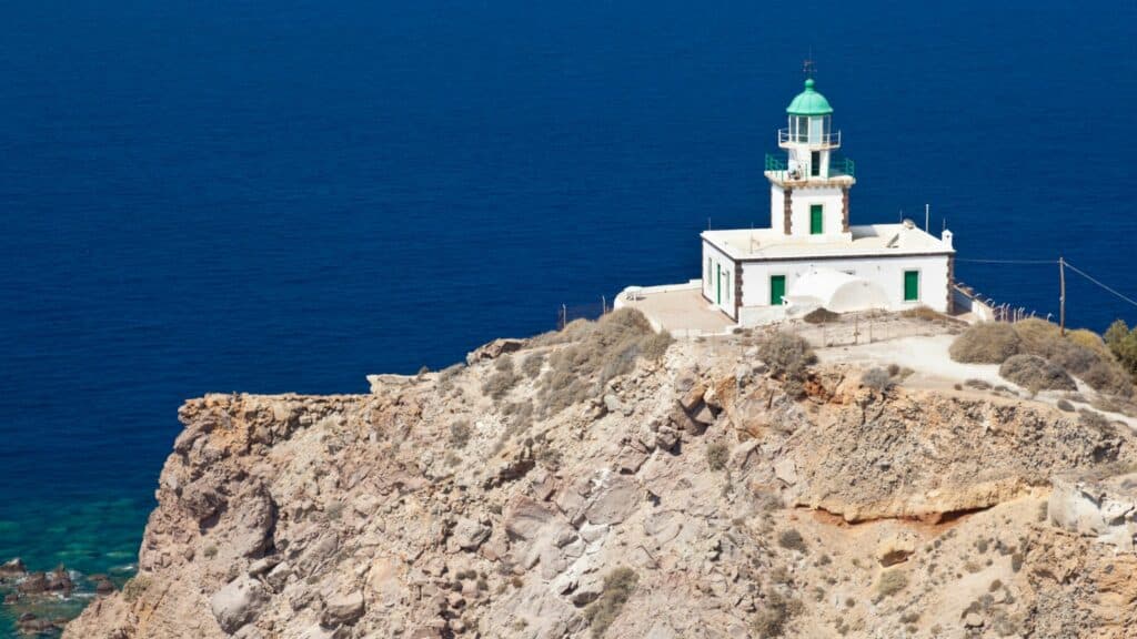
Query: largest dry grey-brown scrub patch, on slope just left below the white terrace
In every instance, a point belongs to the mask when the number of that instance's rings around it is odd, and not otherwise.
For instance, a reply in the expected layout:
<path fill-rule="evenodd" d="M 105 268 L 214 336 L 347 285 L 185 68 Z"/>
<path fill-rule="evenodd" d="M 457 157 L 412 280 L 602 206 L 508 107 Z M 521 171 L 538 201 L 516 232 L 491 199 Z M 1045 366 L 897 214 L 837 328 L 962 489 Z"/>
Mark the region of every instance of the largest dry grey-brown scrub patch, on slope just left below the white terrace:
<path fill-rule="evenodd" d="M 658 359 L 674 341 L 666 332 L 653 331 L 647 318 L 631 308 L 597 322 L 572 322 L 563 333 L 571 333 L 572 340 L 549 355 L 550 370 L 540 380 L 550 414 L 596 397 L 608 380 L 631 372 L 638 359 Z"/>

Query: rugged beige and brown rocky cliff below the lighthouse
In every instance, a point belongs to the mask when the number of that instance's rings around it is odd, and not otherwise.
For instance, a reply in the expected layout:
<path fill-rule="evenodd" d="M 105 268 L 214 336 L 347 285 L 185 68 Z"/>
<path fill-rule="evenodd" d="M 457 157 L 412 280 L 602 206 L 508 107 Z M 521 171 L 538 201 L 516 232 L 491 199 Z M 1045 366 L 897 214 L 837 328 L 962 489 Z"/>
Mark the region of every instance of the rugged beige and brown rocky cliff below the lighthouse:
<path fill-rule="evenodd" d="M 1134 636 L 1131 537 L 1047 514 L 1128 429 L 762 339 L 617 313 L 367 395 L 191 400 L 138 576 L 65 637 Z"/>

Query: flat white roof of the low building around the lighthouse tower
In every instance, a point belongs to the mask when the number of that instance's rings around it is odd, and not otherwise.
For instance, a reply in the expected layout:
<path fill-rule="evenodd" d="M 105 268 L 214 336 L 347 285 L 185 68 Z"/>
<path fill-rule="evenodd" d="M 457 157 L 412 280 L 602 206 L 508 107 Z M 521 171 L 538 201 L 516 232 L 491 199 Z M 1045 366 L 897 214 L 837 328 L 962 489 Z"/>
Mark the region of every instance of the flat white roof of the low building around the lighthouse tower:
<path fill-rule="evenodd" d="M 733 259 L 808 259 L 947 255 L 947 242 L 911 223 L 852 226 L 852 239 L 786 235 L 775 229 L 704 231 L 702 238 Z"/>

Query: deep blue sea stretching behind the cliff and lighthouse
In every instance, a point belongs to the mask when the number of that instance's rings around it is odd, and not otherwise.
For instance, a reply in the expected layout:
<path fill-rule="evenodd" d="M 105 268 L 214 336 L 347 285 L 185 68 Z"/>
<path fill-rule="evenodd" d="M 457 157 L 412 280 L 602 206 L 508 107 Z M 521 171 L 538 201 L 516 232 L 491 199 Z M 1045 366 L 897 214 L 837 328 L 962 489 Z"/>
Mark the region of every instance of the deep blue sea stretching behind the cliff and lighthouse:
<path fill-rule="evenodd" d="M 1137 3 L 0 5 L 0 561 L 133 567 L 179 405 L 365 391 L 698 276 L 816 61 L 855 223 L 1137 297 Z M 1069 318 L 1137 308 L 1071 275 Z M 0 620 L 2 623 L 2 620 Z M 0 630 L 3 631 L 3 630 Z"/>

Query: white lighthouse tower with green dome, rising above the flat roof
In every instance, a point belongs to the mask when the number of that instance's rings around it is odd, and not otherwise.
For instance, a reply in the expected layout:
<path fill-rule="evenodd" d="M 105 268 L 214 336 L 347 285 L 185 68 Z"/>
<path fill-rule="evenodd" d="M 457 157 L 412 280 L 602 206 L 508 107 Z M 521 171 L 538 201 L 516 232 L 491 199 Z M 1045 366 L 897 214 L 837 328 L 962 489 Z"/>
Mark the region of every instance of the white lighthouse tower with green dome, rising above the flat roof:
<path fill-rule="evenodd" d="M 785 159 L 766 156 L 771 226 L 805 241 L 852 241 L 849 189 L 853 161 L 839 158 L 840 131 L 833 131 L 833 108 L 812 77 L 786 108 L 788 126 L 778 131 Z"/>

